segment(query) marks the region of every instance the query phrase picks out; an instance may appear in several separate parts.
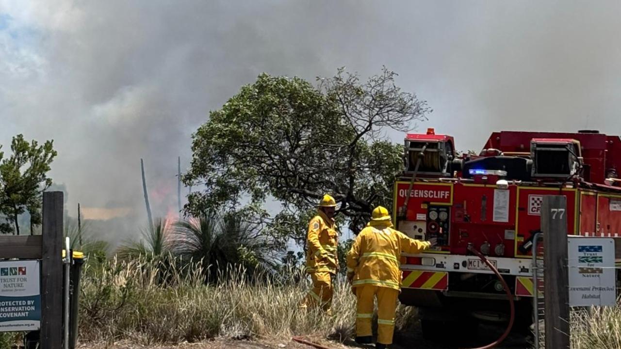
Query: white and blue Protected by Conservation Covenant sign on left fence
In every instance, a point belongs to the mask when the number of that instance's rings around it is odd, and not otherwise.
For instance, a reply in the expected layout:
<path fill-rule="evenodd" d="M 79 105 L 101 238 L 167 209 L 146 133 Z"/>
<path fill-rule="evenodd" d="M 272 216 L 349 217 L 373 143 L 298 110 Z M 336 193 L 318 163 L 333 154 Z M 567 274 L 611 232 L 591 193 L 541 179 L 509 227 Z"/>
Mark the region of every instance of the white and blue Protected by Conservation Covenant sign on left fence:
<path fill-rule="evenodd" d="M 0 261 L 0 332 L 38 330 L 41 324 L 39 261 Z"/>

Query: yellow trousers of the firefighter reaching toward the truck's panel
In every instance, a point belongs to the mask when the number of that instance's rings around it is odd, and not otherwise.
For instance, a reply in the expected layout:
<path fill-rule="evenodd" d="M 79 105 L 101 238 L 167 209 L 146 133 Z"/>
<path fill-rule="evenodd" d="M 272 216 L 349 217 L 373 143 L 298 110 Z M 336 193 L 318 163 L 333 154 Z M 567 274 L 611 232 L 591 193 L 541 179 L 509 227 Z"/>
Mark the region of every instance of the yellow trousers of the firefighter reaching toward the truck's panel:
<path fill-rule="evenodd" d="M 394 312 L 397 309 L 399 291 L 392 288 L 364 284 L 356 286 L 356 337 L 373 335 L 373 301 L 378 299 L 378 343 L 392 344 L 394 333 Z"/>

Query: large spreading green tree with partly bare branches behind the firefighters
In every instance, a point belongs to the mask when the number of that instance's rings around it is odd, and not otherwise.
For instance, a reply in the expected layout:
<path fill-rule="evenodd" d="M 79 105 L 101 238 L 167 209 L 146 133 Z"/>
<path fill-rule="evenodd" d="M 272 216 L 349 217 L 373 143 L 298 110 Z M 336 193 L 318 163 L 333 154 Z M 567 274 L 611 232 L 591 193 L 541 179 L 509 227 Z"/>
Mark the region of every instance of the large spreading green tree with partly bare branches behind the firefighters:
<path fill-rule="evenodd" d="M 357 232 L 373 206 L 391 207 L 392 184 L 402 170 L 402 145 L 384 131 L 406 132 L 431 111 L 401 91 L 395 77 L 383 68 L 361 82 L 341 69 L 313 86 L 301 78 L 258 76 L 193 135 L 184 182 L 205 189 L 189 195 L 186 213 L 235 209 L 248 200 L 246 207 L 270 232 L 301 242 L 300 217 L 331 193 Z M 268 199 L 283 204 L 275 217 L 263 209 Z"/>

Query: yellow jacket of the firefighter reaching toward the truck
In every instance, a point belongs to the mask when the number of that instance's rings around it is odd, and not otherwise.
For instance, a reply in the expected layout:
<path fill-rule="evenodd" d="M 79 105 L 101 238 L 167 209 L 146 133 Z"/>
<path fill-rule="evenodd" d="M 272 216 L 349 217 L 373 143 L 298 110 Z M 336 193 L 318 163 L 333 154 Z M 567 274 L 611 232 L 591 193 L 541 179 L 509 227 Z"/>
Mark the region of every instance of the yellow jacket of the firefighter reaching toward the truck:
<path fill-rule="evenodd" d="M 371 222 L 351 245 L 347 254 L 347 272 L 354 273 L 351 285 L 373 284 L 401 289 L 399 269 L 401 252 L 420 253 L 430 247 L 427 241 L 414 240 L 389 222 Z"/>

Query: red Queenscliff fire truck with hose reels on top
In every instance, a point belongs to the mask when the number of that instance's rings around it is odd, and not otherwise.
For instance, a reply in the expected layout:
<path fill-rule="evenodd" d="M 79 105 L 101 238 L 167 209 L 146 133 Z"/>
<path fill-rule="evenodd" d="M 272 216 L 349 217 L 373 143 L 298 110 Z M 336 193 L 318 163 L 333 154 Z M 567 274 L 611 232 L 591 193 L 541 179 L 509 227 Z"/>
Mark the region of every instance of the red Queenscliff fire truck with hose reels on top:
<path fill-rule="evenodd" d="M 508 322 L 503 284 L 469 248 L 509 286 L 514 330 L 530 332 L 532 240 L 543 196 L 566 196 L 569 235 L 618 237 L 619 170 L 621 138 L 594 130 L 494 132 L 478 155 L 459 156 L 449 135 L 407 134 L 394 222 L 409 237 L 438 241 L 425 253 L 401 256 L 399 299 L 419 309 L 424 336 L 437 338 L 448 327 L 472 334 L 481 321 Z"/>

